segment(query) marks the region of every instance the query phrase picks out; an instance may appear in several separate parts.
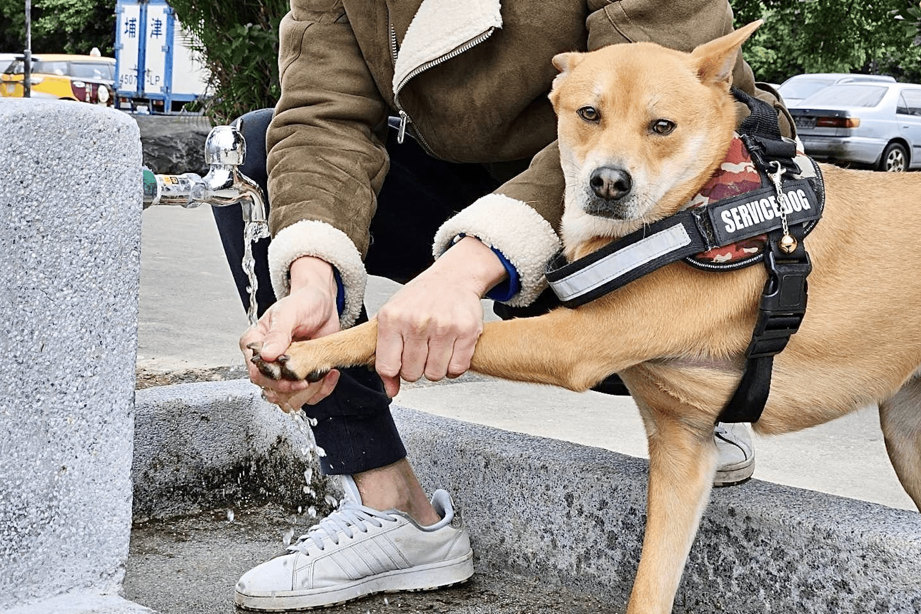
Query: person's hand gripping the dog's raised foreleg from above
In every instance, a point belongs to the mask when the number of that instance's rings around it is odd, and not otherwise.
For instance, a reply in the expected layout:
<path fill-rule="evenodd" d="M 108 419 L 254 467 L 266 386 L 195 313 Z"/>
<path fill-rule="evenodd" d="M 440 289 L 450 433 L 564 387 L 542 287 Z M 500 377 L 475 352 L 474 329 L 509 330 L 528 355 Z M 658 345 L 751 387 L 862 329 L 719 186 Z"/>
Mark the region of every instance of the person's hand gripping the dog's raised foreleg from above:
<path fill-rule="evenodd" d="M 470 368 L 483 332 L 480 298 L 506 276 L 492 249 L 463 237 L 380 308 L 375 368 L 388 396 L 400 377 L 437 381 Z"/>

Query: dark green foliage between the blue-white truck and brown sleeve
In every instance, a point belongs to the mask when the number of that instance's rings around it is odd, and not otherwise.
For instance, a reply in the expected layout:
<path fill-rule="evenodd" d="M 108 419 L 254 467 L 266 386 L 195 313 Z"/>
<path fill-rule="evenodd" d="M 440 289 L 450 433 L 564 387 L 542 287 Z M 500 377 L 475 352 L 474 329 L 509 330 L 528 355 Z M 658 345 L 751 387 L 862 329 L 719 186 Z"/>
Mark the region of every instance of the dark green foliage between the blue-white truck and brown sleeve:
<path fill-rule="evenodd" d="M 288 0 L 170 0 L 183 28 L 198 39 L 214 97 L 205 105 L 226 123 L 278 100 L 278 24 Z"/>

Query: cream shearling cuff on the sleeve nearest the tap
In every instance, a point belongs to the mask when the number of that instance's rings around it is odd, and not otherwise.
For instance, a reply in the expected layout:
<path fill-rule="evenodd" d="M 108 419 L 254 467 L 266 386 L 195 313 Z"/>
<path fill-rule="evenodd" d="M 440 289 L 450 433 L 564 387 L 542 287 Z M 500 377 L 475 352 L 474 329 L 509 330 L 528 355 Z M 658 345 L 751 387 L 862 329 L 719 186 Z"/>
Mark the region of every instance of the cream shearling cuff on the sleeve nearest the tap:
<path fill-rule="evenodd" d="M 355 324 L 365 299 L 367 272 L 352 239 L 342 230 L 316 220 L 301 220 L 279 230 L 269 244 L 269 272 L 278 298 L 291 292 L 288 272 L 291 263 L 301 256 L 320 258 L 339 271 L 345 289 L 339 324 L 344 329 Z"/>

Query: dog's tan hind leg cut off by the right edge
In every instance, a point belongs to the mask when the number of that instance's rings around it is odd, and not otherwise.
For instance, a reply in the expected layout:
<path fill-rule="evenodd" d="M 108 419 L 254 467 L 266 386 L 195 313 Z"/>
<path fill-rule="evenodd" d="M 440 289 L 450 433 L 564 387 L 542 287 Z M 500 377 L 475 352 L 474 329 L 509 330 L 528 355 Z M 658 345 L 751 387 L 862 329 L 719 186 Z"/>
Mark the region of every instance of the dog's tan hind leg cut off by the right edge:
<path fill-rule="evenodd" d="M 921 377 L 880 403 L 880 426 L 895 474 L 921 510 Z"/>

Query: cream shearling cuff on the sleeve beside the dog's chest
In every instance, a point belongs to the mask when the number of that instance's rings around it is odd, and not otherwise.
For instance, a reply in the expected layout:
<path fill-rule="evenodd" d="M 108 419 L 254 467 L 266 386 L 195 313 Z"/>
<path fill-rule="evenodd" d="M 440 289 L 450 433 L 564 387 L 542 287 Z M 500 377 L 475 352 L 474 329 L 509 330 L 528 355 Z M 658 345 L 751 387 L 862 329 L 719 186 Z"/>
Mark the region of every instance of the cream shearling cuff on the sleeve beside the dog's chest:
<path fill-rule="evenodd" d="M 547 287 L 543 271 L 560 249 L 560 239 L 553 226 L 523 201 L 505 194 L 486 194 L 478 199 L 438 228 L 432 247 L 435 257 L 460 235 L 477 237 L 498 249 L 519 272 L 521 289 L 506 301 L 508 305 L 530 305 Z"/>

